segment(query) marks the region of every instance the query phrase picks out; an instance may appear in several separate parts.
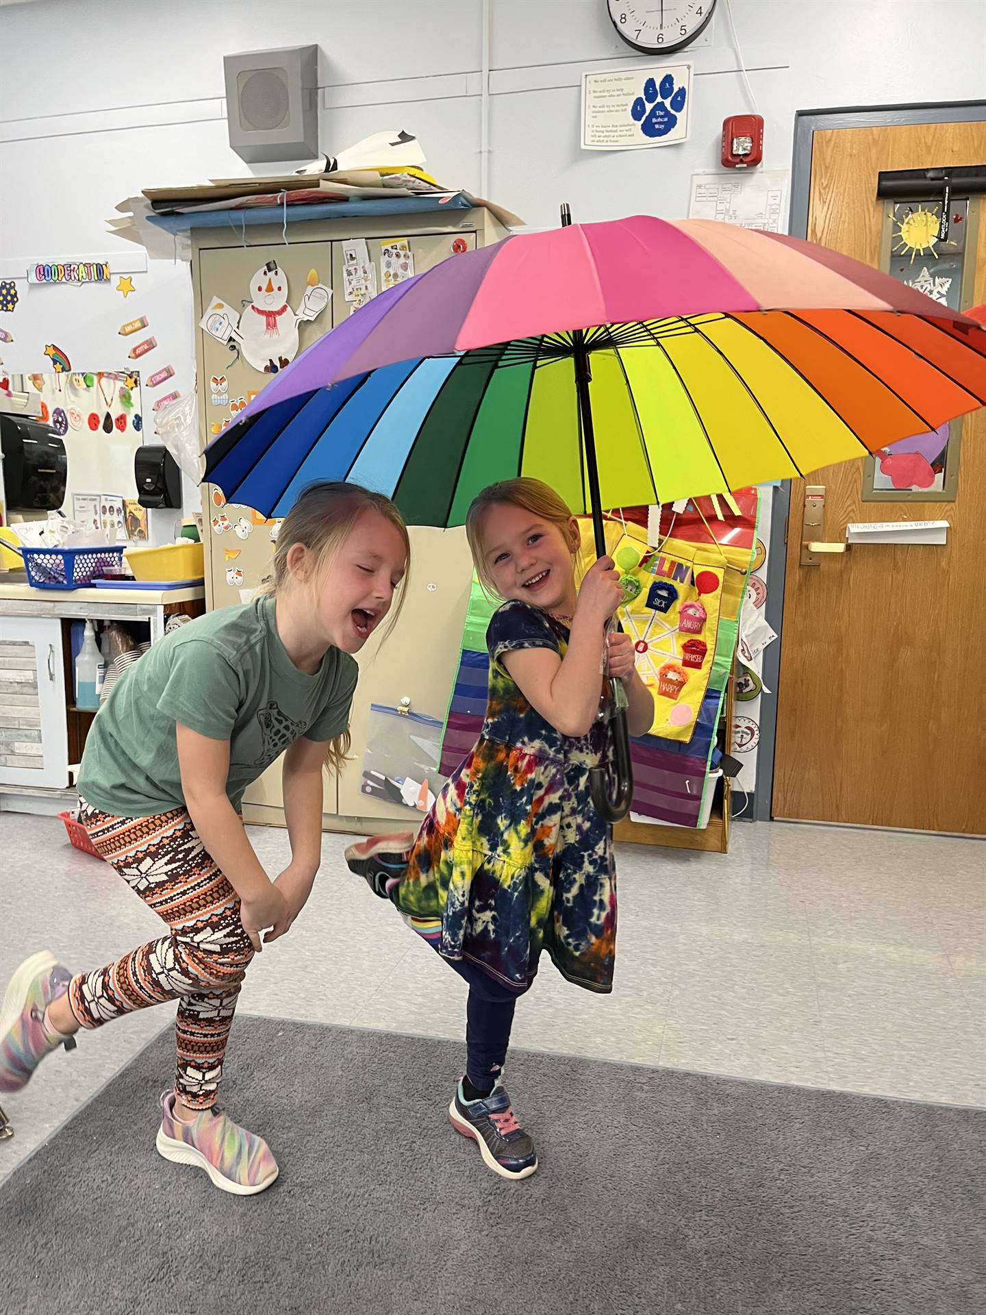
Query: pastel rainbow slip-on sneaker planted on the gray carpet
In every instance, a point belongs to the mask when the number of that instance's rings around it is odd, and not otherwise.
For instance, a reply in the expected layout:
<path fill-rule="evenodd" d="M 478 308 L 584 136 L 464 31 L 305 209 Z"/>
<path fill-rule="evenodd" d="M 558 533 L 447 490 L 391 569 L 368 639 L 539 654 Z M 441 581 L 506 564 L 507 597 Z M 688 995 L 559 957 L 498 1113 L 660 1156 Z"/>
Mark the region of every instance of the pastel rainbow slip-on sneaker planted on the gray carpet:
<path fill-rule="evenodd" d="M 227 1114 L 202 1110 L 191 1123 L 175 1118 L 175 1093 L 160 1098 L 158 1153 L 172 1164 L 205 1169 L 221 1191 L 252 1197 L 277 1177 L 277 1161 L 263 1137 L 241 1128 Z"/>

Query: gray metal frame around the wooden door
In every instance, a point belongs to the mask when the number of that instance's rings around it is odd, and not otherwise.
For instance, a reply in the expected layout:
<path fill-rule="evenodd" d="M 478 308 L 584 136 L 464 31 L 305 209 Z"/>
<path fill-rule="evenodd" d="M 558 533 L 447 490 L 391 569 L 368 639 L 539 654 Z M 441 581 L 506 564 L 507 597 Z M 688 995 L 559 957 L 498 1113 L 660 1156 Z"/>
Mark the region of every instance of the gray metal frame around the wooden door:
<path fill-rule="evenodd" d="M 794 114 L 794 150 L 791 154 L 791 203 L 787 231 L 791 237 L 809 235 L 809 197 L 811 189 L 811 149 L 815 133 L 840 128 L 903 128 L 916 124 L 968 124 L 986 121 L 986 100 L 951 100 L 912 105 L 852 105 L 840 109 L 799 109 Z M 787 569 L 787 513 L 790 480 L 773 492 L 773 519 L 768 546 L 766 621 L 778 639 L 764 651 L 764 684 L 773 690 L 760 705 L 760 752 L 757 782 L 751 807 L 741 817 L 765 822 L 773 814 L 774 748 L 777 744 L 777 698 L 784 643 L 784 585 Z"/>

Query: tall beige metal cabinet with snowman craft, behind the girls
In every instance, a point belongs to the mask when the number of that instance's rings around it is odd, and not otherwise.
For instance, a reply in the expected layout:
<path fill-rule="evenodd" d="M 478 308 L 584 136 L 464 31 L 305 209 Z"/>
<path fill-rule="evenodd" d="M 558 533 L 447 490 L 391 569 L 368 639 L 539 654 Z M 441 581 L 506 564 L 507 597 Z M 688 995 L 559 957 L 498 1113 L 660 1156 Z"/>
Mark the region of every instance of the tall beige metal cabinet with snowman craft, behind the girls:
<path fill-rule="evenodd" d="M 444 218 L 444 216 L 442 217 Z M 414 274 L 440 260 L 485 246 L 505 235 L 488 210 L 460 210 L 448 222 L 435 222 L 434 213 L 381 216 L 380 218 L 312 221 L 289 225 L 288 242 L 280 226 L 247 229 L 241 234 L 221 230 L 193 231 L 192 276 L 195 314 L 201 320 L 213 297 L 239 310 L 248 300 L 248 284 L 268 260 L 288 277 L 288 304 L 296 308 L 309 281 L 331 288 L 326 310 L 301 323 L 300 348 L 340 323 L 354 309 L 346 300 L 344 245 L 363 239 L 376 266 L 377 289 L 383 291 L 381 249 L 404 238 L 411 252 Z M 223 422 L 273 377 L 255 370 L 241 352 L 197 333 L 199 417 L 204 442 L 218 434 Z M 222 493 L 202 485 L 206 606 L 225 608 L 248 601 L 271 573 L 277 526 L 251 508 L 226 504 Z M 338 782 L 326 780 L 325 814 L 365 821 L 394 821 L 398 806 L 388 806 L 360 790 L 371 702 L 396 706 L 410 698 L 415 711 L 443 718 L 451 696 L 459 658 L 472 567 L 461 530 L 439 531 L 411 527 L 411 572 L 404 613 L 381 643 L 375 636 L 360 655 L 360 682 L 352 710 L 352 760 Z M 245 796 L 247 821 L 283 821 L 281 764 L 275 763 Z M 404 817 L 413 822 L 413 813 Z"/>

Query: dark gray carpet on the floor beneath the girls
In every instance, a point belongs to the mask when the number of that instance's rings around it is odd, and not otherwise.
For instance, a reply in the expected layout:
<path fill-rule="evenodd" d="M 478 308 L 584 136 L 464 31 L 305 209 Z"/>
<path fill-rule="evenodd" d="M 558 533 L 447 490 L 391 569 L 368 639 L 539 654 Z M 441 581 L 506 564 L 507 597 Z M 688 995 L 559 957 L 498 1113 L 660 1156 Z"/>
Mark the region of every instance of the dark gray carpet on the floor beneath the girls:
<path fill-rule="evenodd" d="M 225 1097 L 281 1174 L 235 1198 L 154 1149 L 172 1055 L 164 1032 L 0 1187 L 3 1310 L 983 1308 L 982 1111 L 515 1053 L 542 1166 L 513 1184 L 448 1126 L 459 1045 L 247 1016 Z"/>

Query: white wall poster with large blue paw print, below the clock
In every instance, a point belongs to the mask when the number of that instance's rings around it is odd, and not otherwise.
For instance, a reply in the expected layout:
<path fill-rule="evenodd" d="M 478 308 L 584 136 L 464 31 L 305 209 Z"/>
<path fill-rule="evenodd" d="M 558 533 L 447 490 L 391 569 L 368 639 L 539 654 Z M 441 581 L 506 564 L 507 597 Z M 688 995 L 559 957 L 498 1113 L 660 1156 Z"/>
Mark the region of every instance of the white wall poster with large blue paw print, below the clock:
<path fill-rule="evenodd" d="M 690 63 L 582 74 L 582 150 L 631 151 L 689 138 Z"/>

